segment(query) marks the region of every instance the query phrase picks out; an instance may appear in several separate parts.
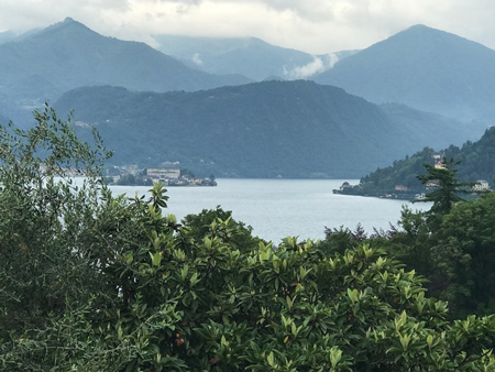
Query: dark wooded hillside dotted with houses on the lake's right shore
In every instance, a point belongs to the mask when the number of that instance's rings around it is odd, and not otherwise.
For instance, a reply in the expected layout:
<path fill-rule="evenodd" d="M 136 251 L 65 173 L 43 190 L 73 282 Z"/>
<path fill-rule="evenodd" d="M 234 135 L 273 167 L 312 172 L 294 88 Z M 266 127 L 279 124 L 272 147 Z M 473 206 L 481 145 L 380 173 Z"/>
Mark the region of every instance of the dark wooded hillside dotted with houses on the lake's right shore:
<path fill-rule="evenodd" d="M 465 182 L 484 179 L 494 186 L 495 127 L 486 130 L 479 141 L 468 141 L 462 147 L 451 145 L 439 153 L 446 158 L 459 162 L 457 165 L 459 179 Z M 396 193 L 396 185 L 408 187 L 410 196 L 422 193 L 425 188 L 417 176 L 425 173 L 425 164 L 431 166 L 439 161 L 433 157 L 436 154 L 438 153 L 432 149 L 425 147 L 411 156 L 395 161 L 391 166 L 377 168 L 362 177 L 359 187 L 349 189 L 346 194 L 381 196 Z"/>

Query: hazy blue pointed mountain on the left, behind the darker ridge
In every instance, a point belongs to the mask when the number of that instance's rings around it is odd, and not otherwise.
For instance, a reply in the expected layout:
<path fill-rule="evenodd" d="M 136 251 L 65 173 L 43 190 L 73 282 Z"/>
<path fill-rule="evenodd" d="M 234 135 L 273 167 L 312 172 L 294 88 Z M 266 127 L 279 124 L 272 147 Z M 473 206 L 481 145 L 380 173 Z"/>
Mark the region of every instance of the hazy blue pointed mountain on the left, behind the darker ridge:
<path fill-rule="evenodd" d="M 19 41 L 1 44 L 0 81 L 0 100 L 9 97 L 18 107 L 31 109 L 80 86 L 169 91 L 250 80 L 189 68 L 144 43 L 106 37 L 68 18 Z"/>

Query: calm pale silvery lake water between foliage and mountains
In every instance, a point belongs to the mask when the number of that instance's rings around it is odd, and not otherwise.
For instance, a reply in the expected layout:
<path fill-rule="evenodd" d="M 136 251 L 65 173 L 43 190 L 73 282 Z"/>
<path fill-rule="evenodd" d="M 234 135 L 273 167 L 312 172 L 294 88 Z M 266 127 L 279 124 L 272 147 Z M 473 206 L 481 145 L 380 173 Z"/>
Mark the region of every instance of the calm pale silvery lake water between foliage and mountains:
<path fill-rule="evenodd" d="M 324 227 L 366 232 L 397 225 L 402 206 L 429 209 L 426 203 L 410 204 L 358 196 L 334 195 L 343 179 L 217 179 L 217 187 L 169 187 L 166 214 L 178 219 L 202 209 L 221 206 L 235 220 L 253 227 L 253 233 L 278 243 L 287 236 L 324 238 Z M 356 184 L 358 180 L 349 180 Z M 111 186 L 114 194 L 147 194 L 148 186 Z"/>

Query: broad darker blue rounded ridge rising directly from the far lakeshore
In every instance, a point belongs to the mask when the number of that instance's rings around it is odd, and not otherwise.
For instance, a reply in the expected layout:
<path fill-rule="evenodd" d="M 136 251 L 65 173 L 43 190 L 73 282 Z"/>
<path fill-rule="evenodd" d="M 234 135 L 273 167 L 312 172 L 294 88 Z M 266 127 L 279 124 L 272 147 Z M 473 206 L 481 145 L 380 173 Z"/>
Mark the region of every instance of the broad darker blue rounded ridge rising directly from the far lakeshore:
<path fill-rule="evenodd" d="M 466 135 L 447 121 L 398 125 L 376 105 L 306 80 L 166 94 L 78 88 L 55 107 L 75 109 L 82 132 L 95 124 L 116 150 L 114 164 L 178 161 L 198 175 L 359 177 Z"/>

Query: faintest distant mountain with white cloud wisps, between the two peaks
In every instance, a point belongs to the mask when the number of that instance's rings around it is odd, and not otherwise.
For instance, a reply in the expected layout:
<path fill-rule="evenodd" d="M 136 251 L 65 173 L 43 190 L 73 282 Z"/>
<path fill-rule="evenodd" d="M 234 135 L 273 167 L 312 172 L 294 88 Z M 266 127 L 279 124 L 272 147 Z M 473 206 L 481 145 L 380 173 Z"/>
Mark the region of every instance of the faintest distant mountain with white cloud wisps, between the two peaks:
<path fill-rule="evenodd" d="M 154 39 L 158 43 L 158 51 L 190 67 L 211 74 L 240 74 L 257 81 L 274 76 L 284 79 L 306 78 L 354 53 L 345 51 L 314 56 L 275 46 L 256 37 L 154 35 Z"/>

